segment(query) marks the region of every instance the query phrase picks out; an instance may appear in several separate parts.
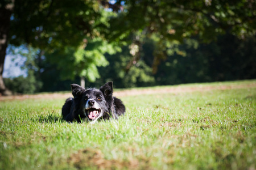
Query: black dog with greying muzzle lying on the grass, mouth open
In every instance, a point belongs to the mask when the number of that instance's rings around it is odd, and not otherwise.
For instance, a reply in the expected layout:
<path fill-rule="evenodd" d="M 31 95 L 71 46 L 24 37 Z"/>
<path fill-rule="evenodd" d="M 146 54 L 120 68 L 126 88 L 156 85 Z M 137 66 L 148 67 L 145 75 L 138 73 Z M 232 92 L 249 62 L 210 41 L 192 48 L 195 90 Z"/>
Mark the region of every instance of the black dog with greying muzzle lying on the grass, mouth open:
<path fill-rule="evenodd" d="M 125 114 L 125 105 L 113 96 L 113 82 L 108 82 L 96 88 L 82 88 L 71 84 L 72 95 L 63 105 L 61 112 L 68 122 L 89 121 L 94 124 L 97 120 L 117 119 Z"/>

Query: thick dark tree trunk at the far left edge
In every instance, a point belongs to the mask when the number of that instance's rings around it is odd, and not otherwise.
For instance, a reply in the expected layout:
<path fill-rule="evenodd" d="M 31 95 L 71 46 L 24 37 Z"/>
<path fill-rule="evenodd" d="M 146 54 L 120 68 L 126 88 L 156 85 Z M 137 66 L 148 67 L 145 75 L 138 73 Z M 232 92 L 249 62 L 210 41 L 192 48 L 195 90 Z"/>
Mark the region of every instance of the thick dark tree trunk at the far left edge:
<path fill-rule="evenodd" d="M 8 41 L 8 32 L 10 28 L 10 17 L 13 12 L 14 2 L 0 7 L 0 94 L 10 95 L 3 82 L 3 63 L 5 63 L 5 55 Z"/>

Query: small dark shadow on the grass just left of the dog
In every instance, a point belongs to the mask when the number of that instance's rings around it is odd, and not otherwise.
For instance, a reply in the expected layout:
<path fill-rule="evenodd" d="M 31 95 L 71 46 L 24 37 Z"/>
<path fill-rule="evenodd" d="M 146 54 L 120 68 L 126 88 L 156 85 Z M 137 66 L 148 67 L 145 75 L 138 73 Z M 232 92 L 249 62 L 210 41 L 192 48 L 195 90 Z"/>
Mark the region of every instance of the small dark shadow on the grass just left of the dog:
<path fill-rule="evenodd" d="M 37 115 L 32 118 L 32 121 L 34 122 L 40 122 L 40 123 L 63 123 L 65 122 L 64 118 L 61 115 L 57 115 L 54 113 L 48 113 L 48 114 L 41 114 Z"/>

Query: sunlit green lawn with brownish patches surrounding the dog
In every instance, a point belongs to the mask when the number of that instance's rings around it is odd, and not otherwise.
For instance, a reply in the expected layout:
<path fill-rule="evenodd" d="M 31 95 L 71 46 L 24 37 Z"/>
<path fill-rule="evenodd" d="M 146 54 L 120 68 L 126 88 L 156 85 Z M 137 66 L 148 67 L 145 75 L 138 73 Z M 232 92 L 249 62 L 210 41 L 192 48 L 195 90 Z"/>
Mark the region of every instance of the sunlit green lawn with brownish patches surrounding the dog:
<path fill-rule="evenodd" d="M 255 169 L 255 83 L 122 96 L 126 116 L 94 125 L 63 121 L 65 99 L 1 101 L 0 169 Z"/>

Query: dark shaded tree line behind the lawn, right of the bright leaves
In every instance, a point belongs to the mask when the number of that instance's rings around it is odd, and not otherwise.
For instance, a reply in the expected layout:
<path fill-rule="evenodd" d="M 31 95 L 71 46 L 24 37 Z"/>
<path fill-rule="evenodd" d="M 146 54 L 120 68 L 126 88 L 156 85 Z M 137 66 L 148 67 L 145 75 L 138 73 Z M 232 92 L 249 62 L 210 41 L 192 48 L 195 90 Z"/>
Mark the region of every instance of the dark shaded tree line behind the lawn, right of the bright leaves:
<path fill-rule="evenodd" d="M 121 53 L 106 56 L 110 65 L 99 69 L 102 78 L 96 84 L 89 83 L 89 86 L 99 87 L 109 80 L 115 82 L 115 87 L 124 88 L 256 78 L 255 37 L 240 40 L 233 35 L 221 35 L 210 44 L 200 43 L 195 37 L 184 40 L 184 44 L 171 44 L 172 51 L 152 74 L 154 52 L 158 48 L 156 43 L 146 39 L 141 48 L 141 58 L 134 61 L 127 72 L 126 66 L 131 60 L 128 46 Z M 137 76 L 145 74 L 147 77 L 143 81 L 142 76 Z"/>

